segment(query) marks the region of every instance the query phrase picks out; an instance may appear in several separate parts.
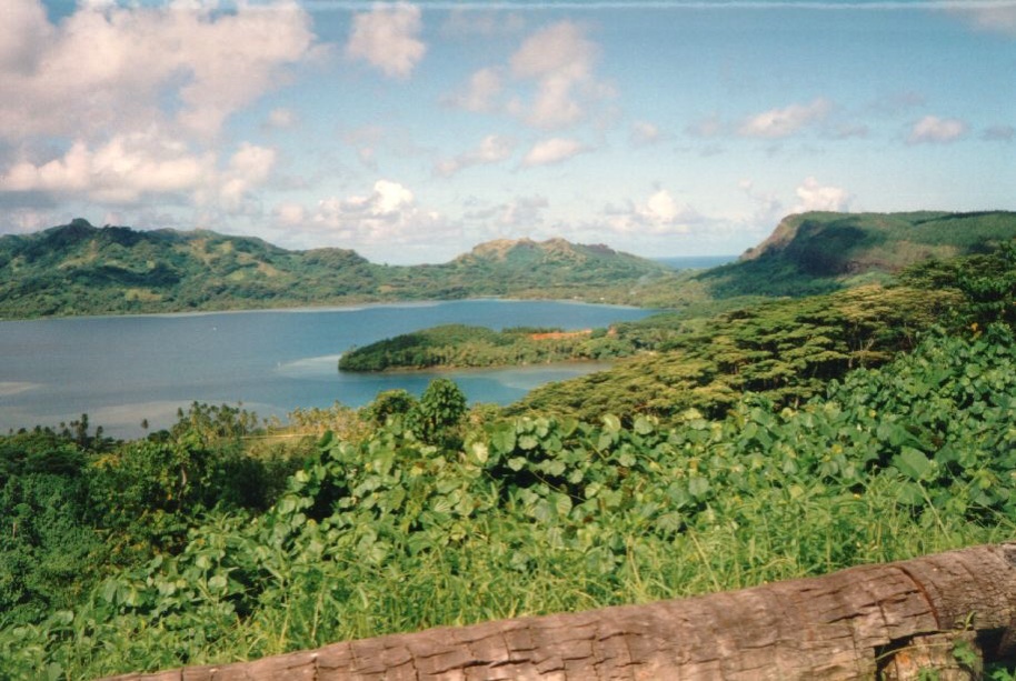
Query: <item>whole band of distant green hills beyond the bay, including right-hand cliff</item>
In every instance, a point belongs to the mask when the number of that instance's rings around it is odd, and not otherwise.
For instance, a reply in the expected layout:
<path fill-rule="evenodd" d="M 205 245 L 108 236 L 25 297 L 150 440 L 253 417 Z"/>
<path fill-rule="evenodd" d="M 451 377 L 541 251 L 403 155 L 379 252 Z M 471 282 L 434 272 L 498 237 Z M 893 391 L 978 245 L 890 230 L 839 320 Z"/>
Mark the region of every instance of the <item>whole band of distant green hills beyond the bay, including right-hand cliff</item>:
<path fill-rule="evenodd" d="M 1016 213 L 804 213 L 740 261 L 675 272 L 605 246 L 492 241 L 431 266 L 342 249 L 287 251 L 210 231 L 97 229 L 84 220 L 0 238 L 0 318 L 327 306 L 482 296 L 695 310 L 885 283 L 929 258 L 985 253 Z M 710 311 L 715 308 L 710 308 Z"/>

